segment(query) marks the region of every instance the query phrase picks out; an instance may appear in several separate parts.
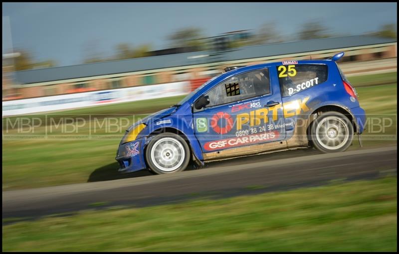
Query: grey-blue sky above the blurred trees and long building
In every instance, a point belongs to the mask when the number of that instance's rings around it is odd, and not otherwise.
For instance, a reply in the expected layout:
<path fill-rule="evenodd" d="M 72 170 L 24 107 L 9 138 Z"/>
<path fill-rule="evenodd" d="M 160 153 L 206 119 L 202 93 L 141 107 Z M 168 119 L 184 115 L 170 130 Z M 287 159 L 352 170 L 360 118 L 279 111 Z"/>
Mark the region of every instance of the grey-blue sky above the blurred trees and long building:
<path fill-rule="evenodd" d="M 275 22 L 280 34 L 292 38 L 301 24 L 312 20 L 341 35 L 397 22 L 396 2 L 9 2 L 2 7 L 3 52 L 4 45 L 11 44 L 10 28 L 14 48 L 28 49 L 36 60 L 55 60 L 58 66 L 80 64 L 95 52 L 110 56 L 124 42 L 162 49 L 168 46 L 169 34 L 188 26 L 214 36 Z"/>

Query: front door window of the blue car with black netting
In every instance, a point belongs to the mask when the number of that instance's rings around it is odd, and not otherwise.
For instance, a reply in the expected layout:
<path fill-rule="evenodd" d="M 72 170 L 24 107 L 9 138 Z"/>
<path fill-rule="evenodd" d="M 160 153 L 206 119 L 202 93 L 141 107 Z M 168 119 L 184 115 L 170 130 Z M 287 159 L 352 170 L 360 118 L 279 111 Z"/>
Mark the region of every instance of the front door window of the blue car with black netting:
<path fill-rule="evenodd" d="M 209 104 L 212 107 L 240 101 L 270 93 L 269 72 L 267 69 L 256 70 L 234 76 L 210 90 Z"/>

